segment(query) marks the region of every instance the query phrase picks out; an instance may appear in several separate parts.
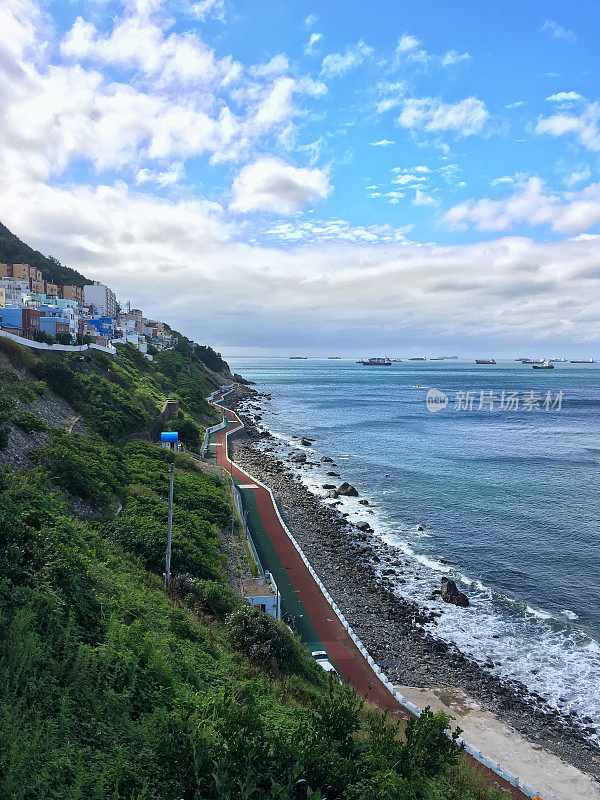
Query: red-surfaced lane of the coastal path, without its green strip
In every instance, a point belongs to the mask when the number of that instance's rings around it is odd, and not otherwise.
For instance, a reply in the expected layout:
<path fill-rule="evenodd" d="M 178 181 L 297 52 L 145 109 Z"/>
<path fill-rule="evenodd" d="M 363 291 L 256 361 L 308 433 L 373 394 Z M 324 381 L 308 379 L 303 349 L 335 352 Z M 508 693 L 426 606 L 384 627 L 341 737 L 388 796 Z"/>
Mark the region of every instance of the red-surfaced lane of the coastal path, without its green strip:
<path fill-rule="evenodd" d="M 309 616 L 319 639 L 323 642 L 333 663 L 351 686 L 361 695 L 368 692 L 369 701 L 382 709 L 387 709 L 390 715 L 401 719 L 409 719 L 412 714 L 404 708 L 392 695 L 379 676 L 373 671 L 369 662 L 363 656 L 353 639 L 342 625 L 337 614 L 327 601 L 318 583 L 311 575 L 300 553 L 290 540 L 281 518 L 277 513 L 274 500 L 264 486 L 259 485 L 244 470 L 240 469 L 230 460 L 227 452 L 227 436 L 241 430 L 244 425 L 240 418 L 230 409 L 220 405 L 221 396 L 211 400 L 211 405 L 221 411 L 228 422 L 226 428 L 213 434 L 215 460 L 225 468 L 234 479 L 248 487 L 244 491 L 254 493 L 258 514 L 266 534 L 268 535 L 282 564 L 285 564 L 287 577 L 294 591 L 297 593 L 306 614 Z M 510 793 L 515 800 L 527 800 L 520 788 L 508 783 L 491 769 L 481 764 L 468 753 L 465 758 L 479 772 L 486 775 L 491 784 Z"/>

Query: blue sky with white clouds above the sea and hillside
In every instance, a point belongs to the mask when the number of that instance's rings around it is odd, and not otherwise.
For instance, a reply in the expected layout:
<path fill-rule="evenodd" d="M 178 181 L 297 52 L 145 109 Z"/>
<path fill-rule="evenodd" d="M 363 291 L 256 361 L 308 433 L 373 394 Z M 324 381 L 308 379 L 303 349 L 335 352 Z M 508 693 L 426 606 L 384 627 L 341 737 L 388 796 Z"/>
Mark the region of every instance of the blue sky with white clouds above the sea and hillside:
<path fill-rule="evenodd" d="M 225 355 L 600 357 L 600 4 L 3 0 L 0 220 Z"/>

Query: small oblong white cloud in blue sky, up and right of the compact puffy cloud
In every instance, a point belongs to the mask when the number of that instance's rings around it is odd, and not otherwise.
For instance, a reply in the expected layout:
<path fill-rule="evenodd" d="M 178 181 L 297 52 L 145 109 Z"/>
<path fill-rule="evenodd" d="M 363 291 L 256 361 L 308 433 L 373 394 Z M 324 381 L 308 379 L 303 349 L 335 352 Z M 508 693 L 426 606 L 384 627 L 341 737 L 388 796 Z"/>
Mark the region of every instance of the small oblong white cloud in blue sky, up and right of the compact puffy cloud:
<path fill-rule="evenodd" d="M 398 124 L 429 132 L 455 131 L 458 136 L 479 133 L 489 113 L 476 97 L 457 103 L 444 103 L 439 97 L 411 98 L 404 101 Z"/>

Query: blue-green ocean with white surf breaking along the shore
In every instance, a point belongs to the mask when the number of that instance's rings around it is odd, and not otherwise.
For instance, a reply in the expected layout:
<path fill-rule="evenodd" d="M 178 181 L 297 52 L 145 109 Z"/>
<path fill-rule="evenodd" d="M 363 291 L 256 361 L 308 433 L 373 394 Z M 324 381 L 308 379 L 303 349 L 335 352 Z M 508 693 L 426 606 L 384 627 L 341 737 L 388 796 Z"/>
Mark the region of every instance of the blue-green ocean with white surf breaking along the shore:
<path fill-rule="evenodd" d="M 442 611 L 431 633 L 600 742 L 600 365 L 229 363 L 272 394 L 262 423 L 282 453 L 313 438 L 359 490 L 345 510 L 410 565 L 397 591 Z M 302 471 L 323 496 L 326 469 Z M 443 575 L 469 608 L 428 599 Z"/>

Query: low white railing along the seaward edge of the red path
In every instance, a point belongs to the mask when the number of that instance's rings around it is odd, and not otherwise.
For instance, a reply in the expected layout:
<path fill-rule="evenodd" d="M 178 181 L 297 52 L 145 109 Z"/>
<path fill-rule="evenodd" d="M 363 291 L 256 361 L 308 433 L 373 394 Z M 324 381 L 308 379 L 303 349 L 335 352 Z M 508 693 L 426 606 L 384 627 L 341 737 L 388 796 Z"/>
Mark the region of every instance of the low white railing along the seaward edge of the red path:
<path fill-rule="evenodd" d="M 218 408 L 223 413 L 223 415 L 225 415 L 225 409 L 222 406 L 219 406 L 218 403 L 216 403 L 212 399 L 215 394 L 217 394 L 217 392 L 213 392 L 213 394 L 211 395 L 211 397 L 209 399 L 209 402 L 212 402 L 213 405 L 215 405 L 215 407 Z M 227 392 L 227 394 L 229 394 L 229 392 Z M 224 397 L 225 397 L 225 395 L 223 395 L 220 398 L 220 400 L 223 400 Z M 238 422 L 239 422 L 239 425 L 236 428 L 233 428 L 232 430 L 227 431 L 227 433 L 225 434 L 225 446 L 227 448 L 226 454 L 229 453 L 229 435 L 231 433 L 237 432 L 238 430 L 240 430 L 240 428 L 244 427 L 243 423 L 239 420 L 239 418 L 238 418 Z M 229 458 L 228 455 L 227 455 L 227 457 Z M 321 579 L 319 578 L 317 573 L 312 568 L 311 563 L 309 562 L 307 557 L 304 555 L 304 552 L 303 552 L 302 548 L 300 547 L 298 542 L 294 539 L 292 533 L 288 530 L 287 525 L 285 524 L 285 522 L 283 521 L 283 519 L 281 517 L 281 514 L 279 513 L 279 509 L 277 508 L 277 503 L 275 502 L 275 497 L 273 496 L 273 492 L 271 491 L 271 489 L 269 489 L 268 486 L 265 486 L 264 483 L 261 483 L 261 481 L 259 481 L 258 478 L 255 478 L 253 475 L 251 475 L 246 470 L 242 470 L 240 467 L 237 467 L 237 469 L 239 469 L 240 471 L 244 472 L 249 480 L 251 480 L 253 483 L 258 484 L 259 486 L 261 486 L 263 489 L 265 489 L 269 493 L 269 495 L 271 496 L 271 502 L 273 503 L 273 508 L 275 509 L 275 513 L 277 514 L 277 518 L 279 519 L 279 522 L 281 523 L 281 527 L 283 528 L 283 530 L 285 531 L 285 533 L 288 536 L 289 540 L 292 542 L 292 544 L 294 545 L 294 547 L 298 551 L 298 554 L 300 555 L 300 558 L 304 561 L 308 571 L 310 572 L 310 574 L 314 578 L 315 583 L 317 584 L 317 586 L 319 587 L 319 589 L 323 593 L 323 596 L 325 597 L 325 599 L 327 600 L 327 602 L 331 606 L 332 610 L 334 611 L 334 613 L 338 617 L 339 621 L 342 623 L 342 625 L 344 626 L 344 628 L 348 632 L 348 635 L 350 636 L 350 638 L 352 639 L 352 641 L 354 642 L 354 644 L 356 645 L 356 647 L 358 648 L 358 650 L 360 651 L 362 656 L 365 658 L 365 660 L 367 661 L 367 663 L 369 664 L 369 666 L 371 667 L 371 669 L 373 670 L 375 675 L 379 678 L 379 680 L 383 683 L 383 685 L 386 687 L 386 689 L 394 696 L 394 698 L 398 701 L 398 703 L 401 706 L 406 708 L 408 711 L 411 712 L 411 714 L 414 714 L 416 717 L 420 716 L 421 715 L 421 710 L 419 709 L 419 707 L 416 706 L 414 703 L 411 703 L 410 700 L 407 700 L 395 688 L 393 683 L 388 679 L 388 677 L 385 675 L 385 673 L 383 672 L 381 667 L 379 667 L 376 664 L 374 659 L 369 654 L 367 648 L 364 646 L 364 644 L 360 641 L 358 636 L 354 633 L 354 631 L 350 627 L 350 624 L 348 623 L 348 621 L 346 620 L 346 618 L 344 617 L 344 615 L 342 614 L 342 612 L 338 608 L 337 604 L 335 603 L 335 601 L 333 600 L 333 598 L 331 597 L 331 595 L 329 594 L 329 592 L 327 591 L 327 589 L 325 588 L 323 583 L 321 582 Z M 451 734 L 448 733 L 448 735 L 450 736 Z M 527 783 L 522 783 L 519 780 L 517 775 L 514 775 L 509 770 L 503 769 L 497 761 L 494 761 L 491 758 L 487 758 L 486 756 L 484 756 L 482 754 L 481 750 L 478 750 L 476 747 L 473 747 L 472 745 L 467 744 L 467 742 L 465 742 L 464 739 L 458 739 L 458 744 L 459 745 L 462 744 L 464 746 L 465 752 L 469 753 L 469 755 L 473 756 L 473 758 L 475 758 L 477 761 L 479 761 L 485 767 L 487 767 L 488 769 L 492 770 L 492 772 L 494 772 L 496 775 L 499 775 L 505 781 L 510 783 L 511 786 L 516 786 L 517 788 L 519 788 L 526 797 L 532 798 L 532 800 L 534 798 L 541 798 L 542 797 L 542 795 L 540 794 L 539 791 L 536 791 L 532 786 L 530 786 Z M 547 797 L 546 800 L 551 800 L 551 798 Z"/>

